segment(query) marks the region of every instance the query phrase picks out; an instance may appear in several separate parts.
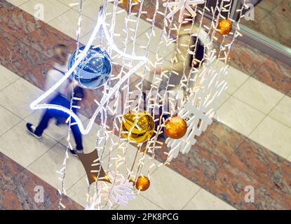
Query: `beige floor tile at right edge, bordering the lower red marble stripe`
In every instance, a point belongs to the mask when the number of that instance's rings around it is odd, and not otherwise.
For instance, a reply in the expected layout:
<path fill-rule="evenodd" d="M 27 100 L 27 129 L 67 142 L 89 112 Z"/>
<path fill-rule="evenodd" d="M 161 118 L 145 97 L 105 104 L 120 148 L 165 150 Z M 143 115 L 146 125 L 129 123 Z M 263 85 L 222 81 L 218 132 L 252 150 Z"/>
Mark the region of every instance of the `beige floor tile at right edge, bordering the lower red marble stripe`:
<path fill-rule="evenodd" d="M 266 117 L 250 134 L 250 139 L 283 158 L 291 154 L 291 129 L 272 118 Z"/>

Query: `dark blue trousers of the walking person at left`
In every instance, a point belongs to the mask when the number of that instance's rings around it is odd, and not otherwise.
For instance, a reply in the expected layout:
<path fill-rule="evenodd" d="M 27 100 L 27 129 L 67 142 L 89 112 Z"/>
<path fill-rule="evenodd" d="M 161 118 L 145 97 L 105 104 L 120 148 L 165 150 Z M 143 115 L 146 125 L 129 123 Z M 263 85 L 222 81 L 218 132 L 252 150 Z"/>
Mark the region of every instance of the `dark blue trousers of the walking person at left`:
<path fill-rule="evenodd" d="M 57 94 L 57 96 L 53 98 L 48 104 L 64 106 L 67 109 L 70 108 L 70 102 L 67 99 L 65 99 L 65 97 L 62 97 L 62 95 L 60 94 Z M 73 109 L 73 111 L 74 113 L 76 113 L 76 109 Z M 39 122 L 39 125 L 36 127 L 35 134 L 37 135 L 43 134 L 43 131 L 46 130 L 46 128 L 48 127 L 48 123 L 52 118 L 55 118 L 56 120 L 67 120 L 67 118 L 69 118 L 69 115 L 63 111 L 57 111 L 55 109 L 46 109 L 45 113 L 43 113 L 41 121 Z M 75 122 L 76 121 L 74 120 L 74 118 L 72 118 L 72 123 Z M 71 130 L 76 141 L 76 149 L 83 150 L 82 134 L 79 130 L 78 125 L 72 125 Z"/>

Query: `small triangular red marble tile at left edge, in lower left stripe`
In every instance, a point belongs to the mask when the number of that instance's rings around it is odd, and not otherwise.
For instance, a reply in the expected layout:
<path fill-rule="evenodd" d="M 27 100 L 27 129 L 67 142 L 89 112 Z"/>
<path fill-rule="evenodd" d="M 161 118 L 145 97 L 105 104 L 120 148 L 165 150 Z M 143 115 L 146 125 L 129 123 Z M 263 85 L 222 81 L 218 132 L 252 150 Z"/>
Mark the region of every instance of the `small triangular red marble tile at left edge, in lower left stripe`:
<path fill-rule="evenodd" d="M 24 167 L 18 165 L 11 158 L 0 153 L 0 188 L 13 179 L 14 176 L 18 176 L 24 169 Z"/>

